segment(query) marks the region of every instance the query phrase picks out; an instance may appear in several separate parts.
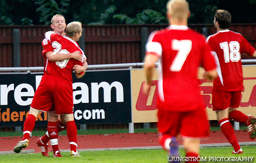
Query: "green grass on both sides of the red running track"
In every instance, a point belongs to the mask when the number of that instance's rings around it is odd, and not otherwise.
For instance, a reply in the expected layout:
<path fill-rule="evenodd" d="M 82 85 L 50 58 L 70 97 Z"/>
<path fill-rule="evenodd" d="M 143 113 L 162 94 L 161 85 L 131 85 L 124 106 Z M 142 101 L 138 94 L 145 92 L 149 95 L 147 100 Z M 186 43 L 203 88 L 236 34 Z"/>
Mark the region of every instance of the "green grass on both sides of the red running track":
<path fill-rule="evenodd" d="M 240 129 L 246 129 L 240 127 Z M 211 130 L 219 130 L 219 127 L 211 127 Z M 92 134 L 107 134 L 107 133 L 128 133 L 128 129 L 89 129 L 78 130 L 78 135 L 92 135 Z M 135 133 L 140 132 L 157 132 L 157 128 L 150 129 L 135 129 Z M 45 131 L 33 131 L 33 136 L 42 136 Z M 64 130 L 60 135 L 67 135 Z M 2 136 L 22 136 L 22 132 L 0 132 Z M 255 145 L 243 146 L 244 154 L 233 155 L 232 147 L 216 147 L 216 148 L 202 148 L 200 155 L 202 157 L 254 157 L 253 163 L 256 163 Z M 185 155 L 183 149 L 181 156 Z M 166 163 L 167 152 L 164 150 L 118 150 L 118 151 L 85 151 L 80 152 L 82 157 L 71 158 L 69 152 L 61 152 L 63 158 L 53 158 L 53 154 L 49 153 L 50 157 L 44 157 L 41 153 L 37 154 L 11 154 L 0 155 L 0 163 Z M 207 161 L 207 163 L 211 161 Z M 216 163 L 216 162 L 215 162 Z M 218 162 L 221 163 L 221 162 Z M 229 162 L 230 163 L 230 162 Z M 238 163 L 238 162 L 236 162 Z M 244 163 L 244 162 L 243 162 Z"/>

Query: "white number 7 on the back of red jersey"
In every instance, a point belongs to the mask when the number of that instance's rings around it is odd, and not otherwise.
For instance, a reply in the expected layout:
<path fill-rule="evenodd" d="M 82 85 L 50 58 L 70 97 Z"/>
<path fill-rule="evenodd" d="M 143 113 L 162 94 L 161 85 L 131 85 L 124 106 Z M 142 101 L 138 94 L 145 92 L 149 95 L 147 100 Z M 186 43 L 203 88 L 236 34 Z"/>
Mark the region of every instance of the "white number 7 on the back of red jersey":
<path fill-rule="evenodd" d="M 178 53 L 173 59 L 172 65 L 170 66 L 171 71 L 180 71 L 185 60 L 191 51 L 192 41 L 191 40 L 173 40 L 172 50 L 177 50 Z"/>

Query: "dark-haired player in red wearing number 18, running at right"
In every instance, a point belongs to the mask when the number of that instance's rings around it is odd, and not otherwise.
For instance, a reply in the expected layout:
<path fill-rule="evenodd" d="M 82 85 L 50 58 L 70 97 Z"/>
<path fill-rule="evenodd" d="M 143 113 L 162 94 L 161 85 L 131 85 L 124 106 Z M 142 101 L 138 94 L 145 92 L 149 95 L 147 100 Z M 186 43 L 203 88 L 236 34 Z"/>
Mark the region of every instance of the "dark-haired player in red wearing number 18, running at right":
<path fill-rule="evenodd" d="M 226 10 L 217 10 L 214 25 L 217 33 L 208 36 L 217 63 L 218 78 L 213 82 L 212 108 L 217 114 L 221 131 L 234 147 L 233 154 L 243 153 L 234 135 L 229 119 L 244 122 L 248 126 L 250 138 L 256 137 L 255 119 L 237 110 L 243 89 L 241 53 L 256 57 L 255 48 L 239 33 L 228 30 L 231 15 Z"/>

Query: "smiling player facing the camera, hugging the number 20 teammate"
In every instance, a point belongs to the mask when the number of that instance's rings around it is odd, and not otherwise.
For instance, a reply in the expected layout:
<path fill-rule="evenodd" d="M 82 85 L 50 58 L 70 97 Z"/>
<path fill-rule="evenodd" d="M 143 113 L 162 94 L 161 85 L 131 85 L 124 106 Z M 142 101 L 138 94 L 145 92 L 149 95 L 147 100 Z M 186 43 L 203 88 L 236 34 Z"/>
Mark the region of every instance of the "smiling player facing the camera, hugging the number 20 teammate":
<path fill-rule="evenodd" d="M 51 27 L 53 29 L 54 32 L 56 32 L 57 34 L 60 34 L 60 35 L 63 35 L 65 36 L 65 28 L 66 28 L 66 23 L 65 23 L 65 18 L 64 16 L 62 15 L 54 15 L 52 17 L 52 20 L 51 20 Z M 69 54 L 59 54 L 59 53 L 53 53 L 54 49 L 52 47 L 52 44 L 50 43 L 50 41 L 45 38 L 43 41 L 42 41 L 42 47 L 43 47 L 43 57 L 45 58 L 45 66 L 46 66 L 46 63 L 47 62 L 54 62 L 54 61 L 63 61 L 65 59 L 75 59 L 75 60 L 78 60 L 78 61 L 81 61 L 82 58 L 83 58 L 83 55 L 80 53 L 80 51 L 75 51 L 73 53 L 69 53 Z M 78 70 L 78 68 L 81 68 L 81 69 L 86 69 L 86 63 L 87 62 L 83 62 L 84 63 L 84 66 L 79 66 L 79 65 L 76 65 L 76 70 Z M 44 73 L 45 73 L 45 69 L 44 69 Z M 83 71 L 83 70 L 81 70 Z M 54 112 L 55 108 L 54 106 L 52 106 L 52 109 L 48 110 L 48 127 L 53 127 L 51 126 L 52 125 L 52 122 L 54 122 L 55 124 L 55 112 Z M 61 119 L 61 117 L 59 117 L 59 119 L 57 120 L 57 129 L 58 129 L 58 132 L 61 132 L 64 127 L 65 127 L 65 120 Z M 39 138 L 37 140 L 37 144 L 38 146 L 41 148 L 41 152 L 42 152 L 42 155 L 43 156 L 49 156 L 48 154 L 48 141 L 50 140 L 49 138 L 49 133 L 48 131 L 46 132 L 46 134 L 42 137 L 42 138 Z"/>

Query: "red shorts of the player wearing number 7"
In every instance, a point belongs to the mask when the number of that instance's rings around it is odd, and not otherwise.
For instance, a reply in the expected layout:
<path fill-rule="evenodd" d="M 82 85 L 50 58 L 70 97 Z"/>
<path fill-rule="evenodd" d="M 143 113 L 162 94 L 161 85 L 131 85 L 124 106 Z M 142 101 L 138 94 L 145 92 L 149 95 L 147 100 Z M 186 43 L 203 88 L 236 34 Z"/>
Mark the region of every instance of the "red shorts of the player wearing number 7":
<path fill-rule="evenodd" d="M 189 112 L 170 112 L 158 108 L 158 129 L 163 135 L 185 137 L 209 137 L 210 125 L 205 108 Z"/>

